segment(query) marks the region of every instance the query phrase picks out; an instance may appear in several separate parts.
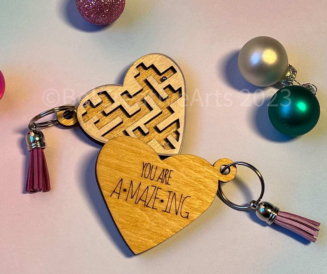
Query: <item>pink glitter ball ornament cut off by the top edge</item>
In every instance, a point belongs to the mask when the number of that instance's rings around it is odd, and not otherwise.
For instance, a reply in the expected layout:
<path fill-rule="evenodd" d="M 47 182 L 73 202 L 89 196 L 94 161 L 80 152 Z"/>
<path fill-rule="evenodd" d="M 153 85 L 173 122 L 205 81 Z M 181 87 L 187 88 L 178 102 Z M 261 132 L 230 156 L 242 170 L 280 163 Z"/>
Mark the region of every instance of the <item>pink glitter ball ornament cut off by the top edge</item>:
<path fill-rule="evenodd" d="M 123 13 L 125 0 L 76 0 L 82 17 L 92 24 L 107 25 Z"/>

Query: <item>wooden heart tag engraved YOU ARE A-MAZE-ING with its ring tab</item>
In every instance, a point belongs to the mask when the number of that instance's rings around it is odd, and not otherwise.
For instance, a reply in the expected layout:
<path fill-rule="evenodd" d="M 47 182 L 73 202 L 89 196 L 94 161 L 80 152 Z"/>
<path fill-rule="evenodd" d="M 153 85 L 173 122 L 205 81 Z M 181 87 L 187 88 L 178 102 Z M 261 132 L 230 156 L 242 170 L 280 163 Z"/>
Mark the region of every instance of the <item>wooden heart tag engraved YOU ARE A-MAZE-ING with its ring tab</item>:
<path fill-rule="evenodd" d="M 134 254 L 174 235 L 205 212 L 214 201 L 218 180 L 236 175 L 219 171 L 232 161 L 214 166 L 195 155 L 161 160 L 143 141 L 116 137 L 101 149 L 96 176 L 102 195 L 121 235 Z"/>

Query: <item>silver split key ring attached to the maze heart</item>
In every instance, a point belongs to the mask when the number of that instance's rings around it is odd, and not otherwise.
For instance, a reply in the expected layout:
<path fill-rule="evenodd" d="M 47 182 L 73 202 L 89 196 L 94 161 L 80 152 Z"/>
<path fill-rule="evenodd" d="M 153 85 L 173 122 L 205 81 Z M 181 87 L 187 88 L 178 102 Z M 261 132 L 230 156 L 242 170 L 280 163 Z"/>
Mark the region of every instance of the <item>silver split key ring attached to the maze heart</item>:
<path fill-rule="evenodd" d="M 75 114 L 77 113 L 77 107 L 75 105 L 62 105 L 62 106 L 57 106 L 51 109 L 48 109 L 46 111 L 41 112 L 40 114 L 36 115 L 35 117 L 32 118 L 32 120 L 28 124 L 29 130 L 36 130 L 36 129 L 43 129 L 46 127 L 50 126 L 55 126 L 59 124 L 58 119 L 53 119 L 45 122 L 40 122 L 37 123 L 36 121 L 40 120 L 42 117 L 47 116 L 49 114 L 58 112 L 58 111 L 73 111 Z"/>

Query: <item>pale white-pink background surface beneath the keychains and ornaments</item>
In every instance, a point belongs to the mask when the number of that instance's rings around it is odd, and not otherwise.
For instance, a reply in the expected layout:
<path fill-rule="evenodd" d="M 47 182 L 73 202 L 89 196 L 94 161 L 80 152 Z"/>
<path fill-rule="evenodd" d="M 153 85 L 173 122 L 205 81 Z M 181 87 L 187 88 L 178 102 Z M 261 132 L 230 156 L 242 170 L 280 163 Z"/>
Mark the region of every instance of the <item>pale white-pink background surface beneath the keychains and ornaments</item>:
<path fill-rule="evenodd" d="M 73 0 L 1 2 L 0 70 L 7 84 L 0 101 L 1 273 L 326 273 L 325 1 L 128 0 L 122 16 L 106 27 L 84 21 Z M 318 87 L 320 120 L 304 136 L 274 130 L 267 103 L 277 89 L 255 94 L 257 87 L 239 75 L 238 51 L 260 35 L 279 40 L 297 80 Z M 52 190 L 24 193 L 29 120 L 77 104 L 97 86 L 122 84 L 128 67 L 152 52 L 172 57 L 186 79 L 182 153 L 256 166 L 266 180 L 265 200 L 322 222 L 315 244 L 216 197 L 185 229 L 134 256 L 95 180 L 100 146 L 78 127 L 43 131 Z M 256 106 L 262 98 L 265 104 Z M 258 195 L 259 181 L 241 167 L 224 191 L 245 203 Z"/>

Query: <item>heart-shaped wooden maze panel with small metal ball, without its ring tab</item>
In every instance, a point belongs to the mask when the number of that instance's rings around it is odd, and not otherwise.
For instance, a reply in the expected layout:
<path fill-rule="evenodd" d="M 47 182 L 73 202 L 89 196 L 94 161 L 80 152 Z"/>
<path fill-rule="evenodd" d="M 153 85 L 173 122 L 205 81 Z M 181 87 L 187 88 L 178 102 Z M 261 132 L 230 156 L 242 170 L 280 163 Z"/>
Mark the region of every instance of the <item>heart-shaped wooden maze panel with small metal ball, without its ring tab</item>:
<path fill-rule="evenodd" d="M 160 155 L 181 153 L 185 126 L 185 80 L 163 54 L 148 54 L 129 68 L 124 85 L 97 87 L 81 99 L 77 119 L 84 133 L 104 144 L 136 137 Z"/>

